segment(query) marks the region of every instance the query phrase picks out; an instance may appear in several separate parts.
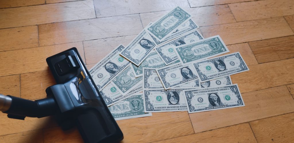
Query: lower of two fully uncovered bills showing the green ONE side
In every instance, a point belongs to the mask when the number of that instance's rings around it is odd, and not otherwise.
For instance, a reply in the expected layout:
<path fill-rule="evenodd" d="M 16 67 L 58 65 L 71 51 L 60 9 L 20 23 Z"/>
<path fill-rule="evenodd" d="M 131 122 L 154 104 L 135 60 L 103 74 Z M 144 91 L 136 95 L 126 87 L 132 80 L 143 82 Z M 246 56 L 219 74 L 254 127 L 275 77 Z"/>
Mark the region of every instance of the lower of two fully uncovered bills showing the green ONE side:
<path fill-rule="evenodd" d="M 193 63 L 230 52 L 219 35 L 173 48 L 182 64 Z"/>

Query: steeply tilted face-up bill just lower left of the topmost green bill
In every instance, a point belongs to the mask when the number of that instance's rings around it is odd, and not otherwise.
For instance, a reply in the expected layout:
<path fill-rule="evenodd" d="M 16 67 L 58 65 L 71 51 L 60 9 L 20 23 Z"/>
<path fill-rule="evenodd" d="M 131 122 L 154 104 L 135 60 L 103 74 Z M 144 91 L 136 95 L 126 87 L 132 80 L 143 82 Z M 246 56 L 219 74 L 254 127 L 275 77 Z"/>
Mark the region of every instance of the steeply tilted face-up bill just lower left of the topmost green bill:
<path fill-rule="evenodd" d="M 155 46 L 156 43 L 144 29 L 120 54 L 139 66 Z"/>

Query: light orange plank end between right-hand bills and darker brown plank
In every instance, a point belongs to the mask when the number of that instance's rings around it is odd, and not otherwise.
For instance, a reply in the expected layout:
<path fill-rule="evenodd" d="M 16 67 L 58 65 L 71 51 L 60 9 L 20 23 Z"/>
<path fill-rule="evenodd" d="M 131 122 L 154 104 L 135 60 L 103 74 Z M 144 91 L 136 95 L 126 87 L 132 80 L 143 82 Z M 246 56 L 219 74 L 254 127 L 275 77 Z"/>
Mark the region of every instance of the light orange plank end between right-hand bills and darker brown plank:
<path fill-rule="evenodd" d="M 228 45 L 227 47 L 230 50 L 230 52 L 225 53 L 223 55 L 234 53 L 234 52 L 240 52 L 241 56 L 243 57 L 245 63 L 248 66 L 258 64 L 248 43 Z M 222 56 L 222 55 L 219 55 L 219 56 Z"/>

